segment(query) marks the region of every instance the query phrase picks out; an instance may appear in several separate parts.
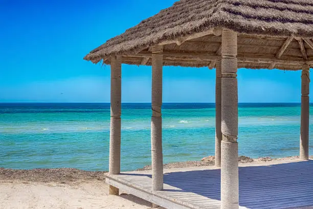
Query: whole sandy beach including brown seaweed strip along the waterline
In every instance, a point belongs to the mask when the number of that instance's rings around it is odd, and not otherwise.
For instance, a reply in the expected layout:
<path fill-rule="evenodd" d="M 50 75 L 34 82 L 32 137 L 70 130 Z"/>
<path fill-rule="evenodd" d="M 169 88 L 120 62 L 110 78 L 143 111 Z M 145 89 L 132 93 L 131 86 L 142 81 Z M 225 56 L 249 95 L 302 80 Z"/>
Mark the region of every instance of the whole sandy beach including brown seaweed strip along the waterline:
<path fill-rule="evenodd" d="M 294 161 L 298 157 L 252 159 L 239 157 L 239 163 L 264 161 Z M 312 159 L 312 158 L 311 158 Z M 214 164 L 214 157 L 200 161 L 170 163 L 164 168 L 205 166 Z M 144 169 L 148 170 L 149 166 Z M 0 209 L 7 208 L 115 208 L 146 209 L 151 204 L 132 195 L 108 195 L 105 172 L 86 172 L 77 169 L 12 170 L 0 168 Z"/>

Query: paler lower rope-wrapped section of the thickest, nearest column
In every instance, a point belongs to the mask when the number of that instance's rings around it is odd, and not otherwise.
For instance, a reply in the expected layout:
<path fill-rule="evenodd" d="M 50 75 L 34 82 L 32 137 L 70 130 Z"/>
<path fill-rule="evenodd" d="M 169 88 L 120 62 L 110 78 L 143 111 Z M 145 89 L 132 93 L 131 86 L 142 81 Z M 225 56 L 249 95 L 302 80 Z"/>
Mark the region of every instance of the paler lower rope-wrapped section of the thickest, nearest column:
<path fill-rule="evenodd" d="M 221 208 L 238 209 L 238 143 L 221 142 Z"/>

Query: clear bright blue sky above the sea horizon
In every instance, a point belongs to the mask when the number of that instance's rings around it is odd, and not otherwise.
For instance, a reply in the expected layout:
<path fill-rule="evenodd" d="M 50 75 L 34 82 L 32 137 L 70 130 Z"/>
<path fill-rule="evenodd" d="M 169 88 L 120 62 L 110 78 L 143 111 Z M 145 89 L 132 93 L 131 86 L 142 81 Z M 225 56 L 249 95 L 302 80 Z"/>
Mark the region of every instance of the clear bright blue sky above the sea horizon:
<path fill-rule="evenodd" d="M 0 0 L 0 102 L 109 102 L 110 67 L 84 55 L 174 2 Z M 151 67 L 122 68 L 123 102 L 150 102 Z M 300 102 L 301 72 L 239 69 L 238 87 L 239 102 Z M 163 100 L 214 102 L 214 70 L 165 67 Z"/>

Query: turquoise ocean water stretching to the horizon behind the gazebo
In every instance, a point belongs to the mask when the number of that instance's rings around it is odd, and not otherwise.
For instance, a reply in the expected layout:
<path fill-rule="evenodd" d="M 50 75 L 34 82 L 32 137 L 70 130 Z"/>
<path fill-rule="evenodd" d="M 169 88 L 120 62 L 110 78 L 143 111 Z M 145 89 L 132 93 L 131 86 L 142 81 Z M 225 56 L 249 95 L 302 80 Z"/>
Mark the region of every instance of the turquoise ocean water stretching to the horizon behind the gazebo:
<path fill-rule="evenodd" d="M 150 107 L 122 105 L 123 171 L 151 163 Z M 0 103 L 0 167 L 107 171 L 109 124 L 108 103 Z M 239 155 L 299 155 L 299 133 L 298 103 L 239 104 Z M 214 143 L 214 103 L 163 105 L 164 163 L 214 155 Z"/>

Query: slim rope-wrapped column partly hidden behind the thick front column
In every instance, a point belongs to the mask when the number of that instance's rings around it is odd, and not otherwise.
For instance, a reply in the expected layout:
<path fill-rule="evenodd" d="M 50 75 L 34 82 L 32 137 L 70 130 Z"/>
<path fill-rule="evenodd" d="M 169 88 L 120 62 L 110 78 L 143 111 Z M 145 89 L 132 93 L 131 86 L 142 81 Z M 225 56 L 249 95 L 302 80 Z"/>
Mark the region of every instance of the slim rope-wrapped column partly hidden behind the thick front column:
<path fill-rule="evenodd" d="M 215 83 L 215 167 L 220 168 L 221 133 L 221 60 L 216 62 Z"/>

